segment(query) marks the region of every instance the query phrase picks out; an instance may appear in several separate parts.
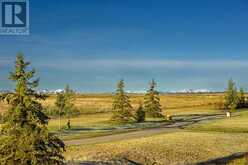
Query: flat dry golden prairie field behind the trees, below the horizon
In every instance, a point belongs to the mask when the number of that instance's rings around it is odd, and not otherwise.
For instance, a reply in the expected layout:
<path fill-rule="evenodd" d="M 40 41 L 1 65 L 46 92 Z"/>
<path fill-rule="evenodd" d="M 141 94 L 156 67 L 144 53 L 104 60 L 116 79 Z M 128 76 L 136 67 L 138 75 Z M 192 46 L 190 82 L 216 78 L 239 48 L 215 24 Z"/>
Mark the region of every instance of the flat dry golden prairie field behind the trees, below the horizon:
<path fill-rule="evenodd" d="M 134 107 L 138 105 L 140 101 L 143 101 L 143 94 L 130 94 L 131 102 Z M 83 94 L 78 95 L 75 100 L 75 105 L 79 107 L 83 112 L 107 112 L 111 111 L 112 106 L 111 94 Z M 160 95 L 160 101 L 163 109 L 179 109 L 179 108 L 191 108 L 202 106 L 214 106 L 218 101 L 223 98 L 221 93 L 213 94 L 162 94 Z M 44 106 L 53 105 L 56 99 L 56 95 L 50 95 L 43 103 Z M 0 103 L 0 110 L 3 111 L 6 105 Z"/>

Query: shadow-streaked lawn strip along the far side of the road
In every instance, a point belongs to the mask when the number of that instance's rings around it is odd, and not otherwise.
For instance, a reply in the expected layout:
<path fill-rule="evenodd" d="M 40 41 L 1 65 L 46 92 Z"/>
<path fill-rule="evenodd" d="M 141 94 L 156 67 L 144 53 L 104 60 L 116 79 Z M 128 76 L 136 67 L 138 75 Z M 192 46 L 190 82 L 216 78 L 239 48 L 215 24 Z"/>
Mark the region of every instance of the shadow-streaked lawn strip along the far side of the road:
<path fill-rule="evenodd" d="M 52 119 L 49 122 L 49 130 L 58 134 L 64 140 L 97 137 L 103 135 L 112 135 L 130 131 L 141 130 L 144 128 L 159 127 L 168 123 L 165 119 L 148 118 L 142 123 L 113 123 L 110 122 L 111 114 L 97 113 L 80 115 L 71 118 L 71 129 L 62 129 L 59 132 L 59 119 Z M 61 119 L 61 128 L 66 127 L 67 118 Z"/>

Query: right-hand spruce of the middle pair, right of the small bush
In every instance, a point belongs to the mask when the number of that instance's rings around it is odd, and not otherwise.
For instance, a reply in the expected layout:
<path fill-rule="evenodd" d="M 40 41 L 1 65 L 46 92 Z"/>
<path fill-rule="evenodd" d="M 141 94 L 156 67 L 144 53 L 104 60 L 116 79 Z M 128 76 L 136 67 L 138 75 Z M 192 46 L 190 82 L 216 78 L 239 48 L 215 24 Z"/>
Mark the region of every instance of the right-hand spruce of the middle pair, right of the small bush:
<path fill-rule="evenodd" d="M 156 82 L 152 80 L 145 95 L 144 107 L 148 117 L 164 117 L 160 105 L 159 92 L 155 90 Z"/>

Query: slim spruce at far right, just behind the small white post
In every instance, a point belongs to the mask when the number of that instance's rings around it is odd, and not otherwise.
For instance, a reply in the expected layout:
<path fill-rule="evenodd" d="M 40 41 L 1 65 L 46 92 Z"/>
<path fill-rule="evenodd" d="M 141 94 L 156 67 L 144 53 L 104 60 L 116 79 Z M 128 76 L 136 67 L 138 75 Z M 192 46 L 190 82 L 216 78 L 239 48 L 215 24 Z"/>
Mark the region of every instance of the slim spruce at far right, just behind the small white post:
<path fill-rule="evenodd" d="M 238 92 L 235 82 L 230 79 L 225 92 L 225 109 L 236 109 L 238 106 Z"/>

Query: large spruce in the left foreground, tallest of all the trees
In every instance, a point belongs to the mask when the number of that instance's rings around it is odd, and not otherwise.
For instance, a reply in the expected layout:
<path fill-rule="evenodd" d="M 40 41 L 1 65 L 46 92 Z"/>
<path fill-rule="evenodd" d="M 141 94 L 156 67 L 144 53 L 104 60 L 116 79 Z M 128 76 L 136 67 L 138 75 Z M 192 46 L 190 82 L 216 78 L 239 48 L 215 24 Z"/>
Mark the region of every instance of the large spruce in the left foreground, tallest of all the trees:
<path fill-rule="evenodd" d="M 4 116 L 0 136 L 0 164 L 50 165 L 63 164 L 64 143 L 48 132 L 48 117 L 42 112 L 35 71 L 27 71 L 30 63 L 18 55 L 10 79 L 16 83 L 13 93 L 2 96 L 11 108 Z"/>

